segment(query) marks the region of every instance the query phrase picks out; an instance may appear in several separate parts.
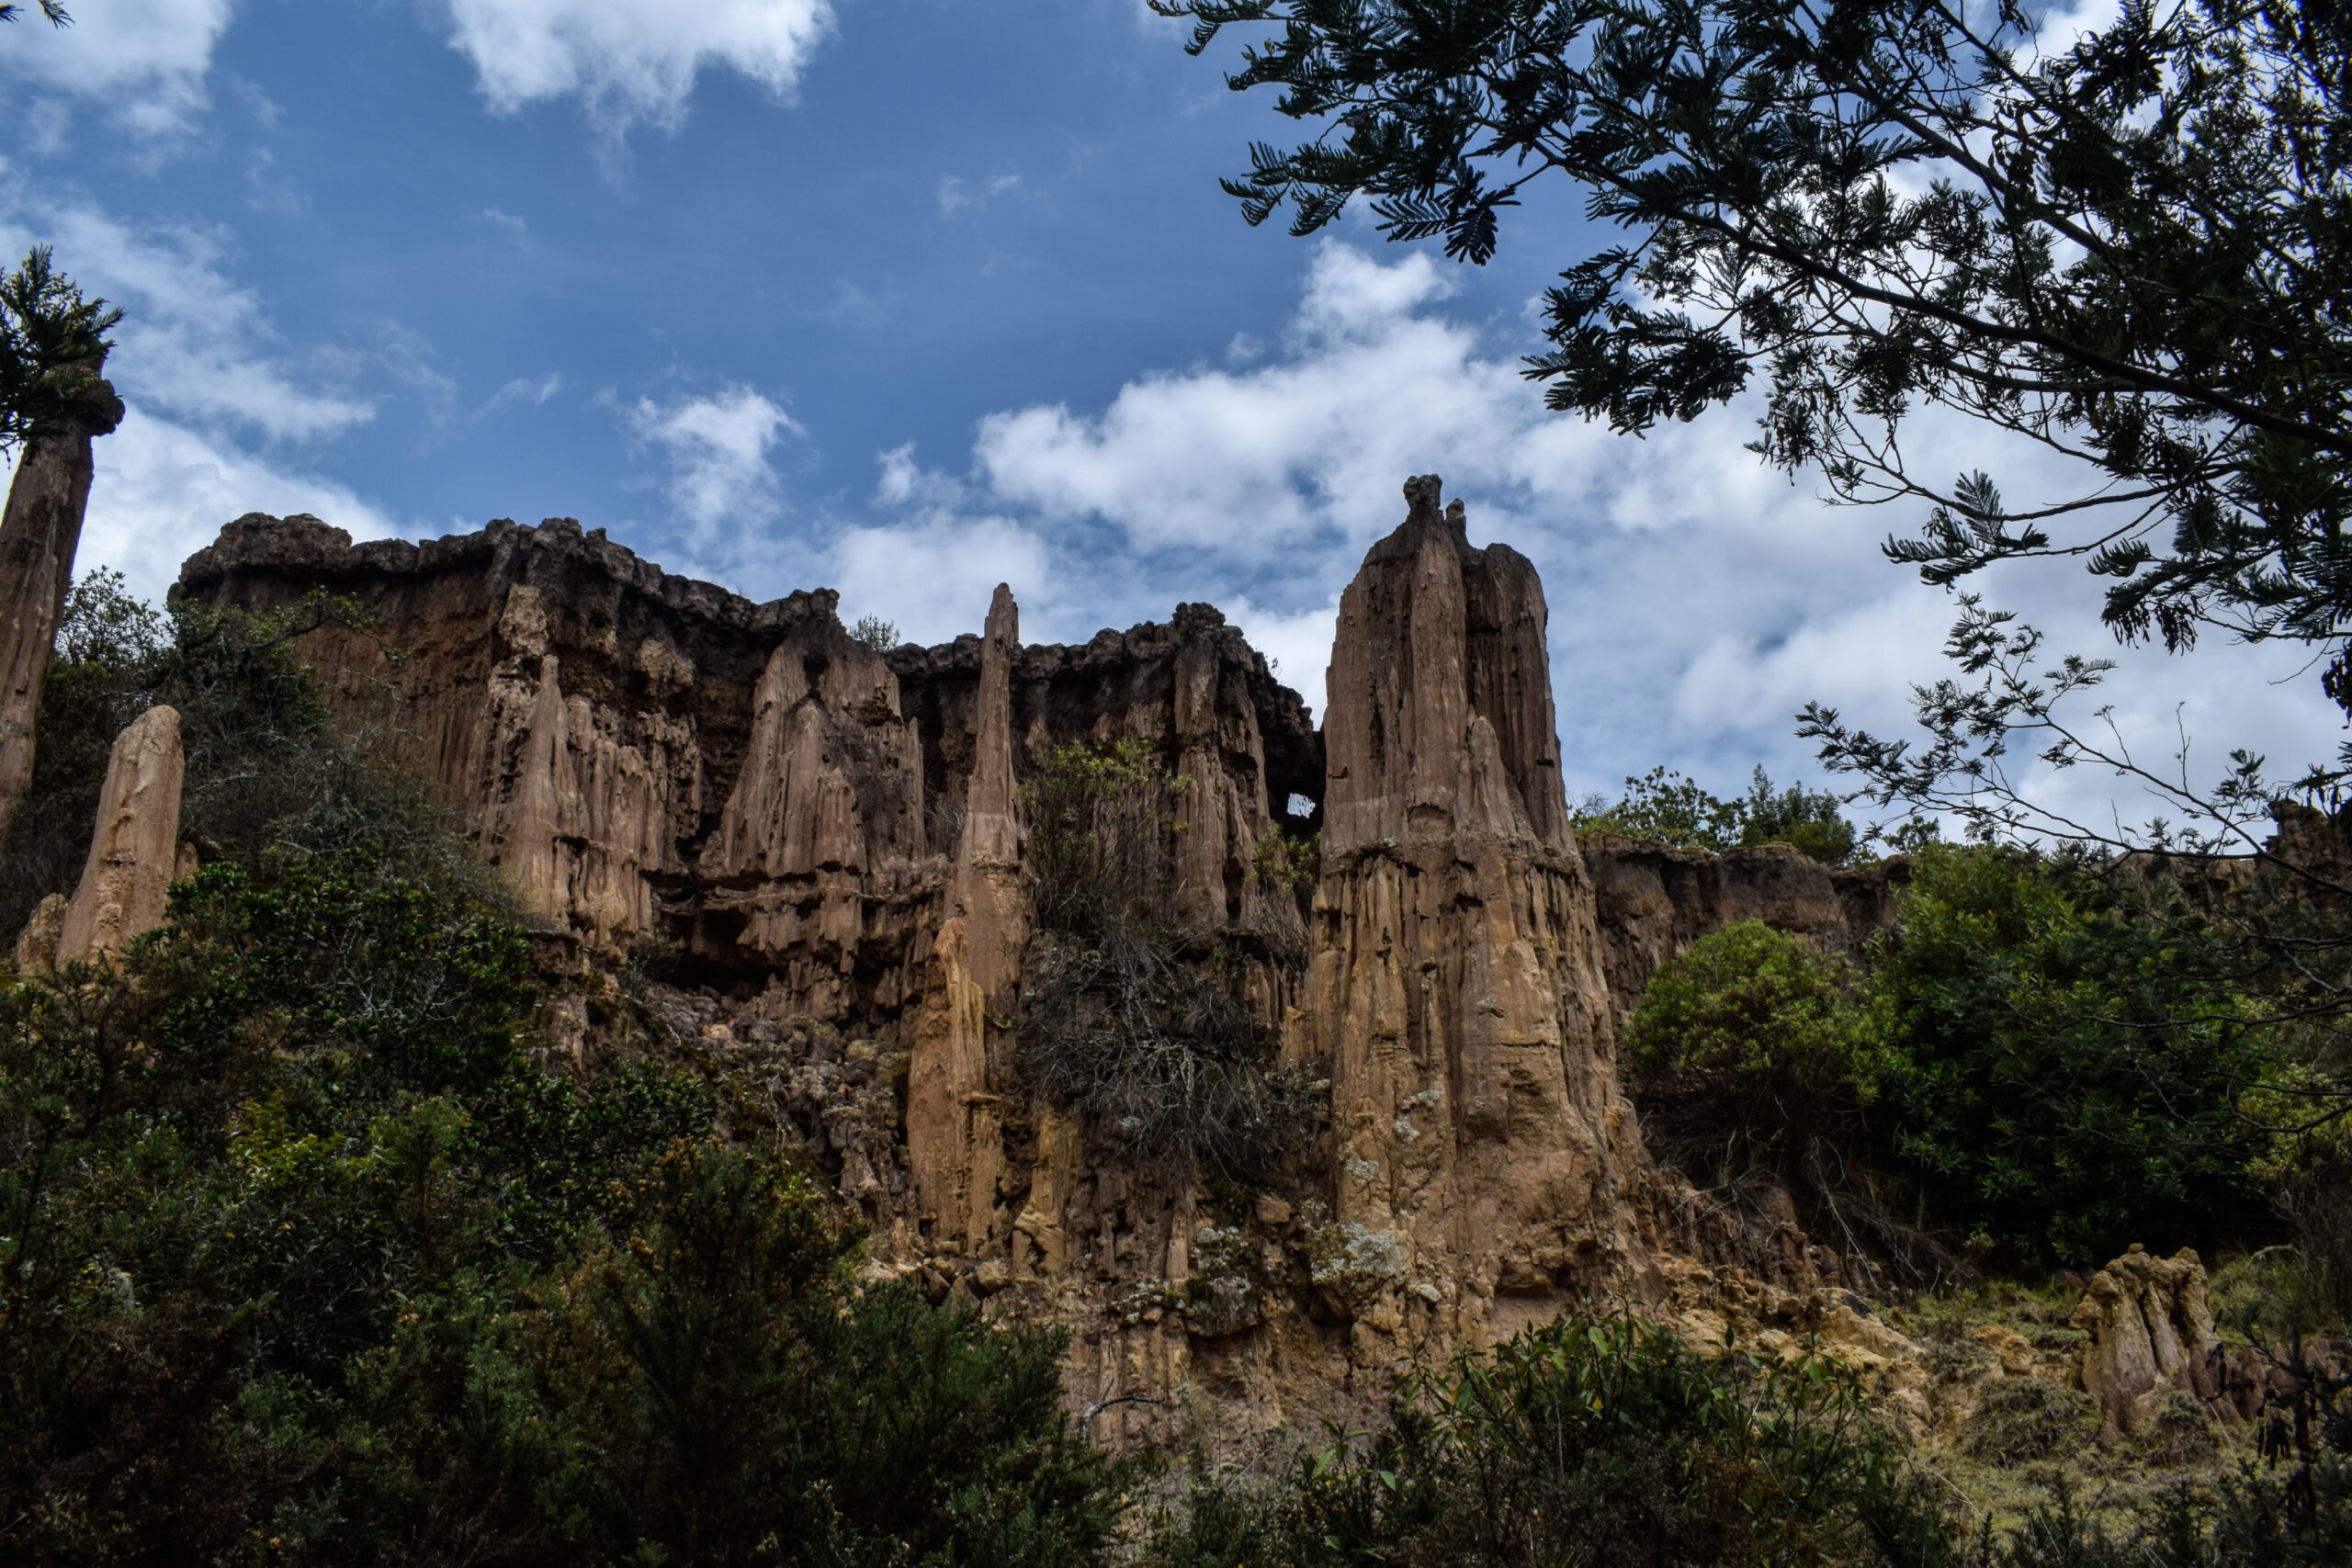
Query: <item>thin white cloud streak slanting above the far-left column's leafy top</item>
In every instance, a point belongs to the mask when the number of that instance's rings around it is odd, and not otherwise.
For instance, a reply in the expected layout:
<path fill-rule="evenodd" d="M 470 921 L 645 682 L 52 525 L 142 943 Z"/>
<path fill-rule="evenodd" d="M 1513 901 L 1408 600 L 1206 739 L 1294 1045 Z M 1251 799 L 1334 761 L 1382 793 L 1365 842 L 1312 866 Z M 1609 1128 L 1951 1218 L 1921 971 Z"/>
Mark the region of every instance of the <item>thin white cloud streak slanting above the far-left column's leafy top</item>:
<path fill-rule="evenodd" d="M 205 428 L 313 440 L 374 409 L 303 376 L 278 350 L 261 296 L 226 270 L 207 230 L 132 226 L 80 202 L 38 202 L 0 167 L 0 254 L 54 244 L 89 294 L 122 306 L 108 376 L 127 397 Z"/>

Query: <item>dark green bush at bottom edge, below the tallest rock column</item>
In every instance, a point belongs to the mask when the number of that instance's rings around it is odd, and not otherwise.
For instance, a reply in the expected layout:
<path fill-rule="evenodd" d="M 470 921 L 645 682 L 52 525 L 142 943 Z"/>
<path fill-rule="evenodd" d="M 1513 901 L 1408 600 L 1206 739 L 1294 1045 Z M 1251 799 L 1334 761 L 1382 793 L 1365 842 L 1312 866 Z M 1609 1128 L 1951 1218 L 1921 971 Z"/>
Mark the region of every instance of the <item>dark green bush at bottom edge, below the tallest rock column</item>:
<path fill-rule="evenodd" d="M 1385 1429 L 1275 1488 L 1197 1476 L 1174 1566 L 1943 1563 L 1947 1526 L 1825 1361 L 1698 1354 L 1632 1316 L 1421 1366 Z"/>

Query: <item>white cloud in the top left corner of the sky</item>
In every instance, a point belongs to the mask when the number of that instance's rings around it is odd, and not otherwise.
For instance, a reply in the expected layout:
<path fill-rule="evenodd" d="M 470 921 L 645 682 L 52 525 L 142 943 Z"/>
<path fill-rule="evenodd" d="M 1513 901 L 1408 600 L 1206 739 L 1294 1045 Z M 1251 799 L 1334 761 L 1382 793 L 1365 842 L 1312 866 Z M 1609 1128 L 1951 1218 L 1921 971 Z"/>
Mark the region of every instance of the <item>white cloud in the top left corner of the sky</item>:
<path fill-rule="evenodd" d="M 141 136 L 162 139 L 202 113 L 212 47 L 235 0 L 92 0 L 71 28 L 19 21 L 0 73 L 96 99 Z"/>

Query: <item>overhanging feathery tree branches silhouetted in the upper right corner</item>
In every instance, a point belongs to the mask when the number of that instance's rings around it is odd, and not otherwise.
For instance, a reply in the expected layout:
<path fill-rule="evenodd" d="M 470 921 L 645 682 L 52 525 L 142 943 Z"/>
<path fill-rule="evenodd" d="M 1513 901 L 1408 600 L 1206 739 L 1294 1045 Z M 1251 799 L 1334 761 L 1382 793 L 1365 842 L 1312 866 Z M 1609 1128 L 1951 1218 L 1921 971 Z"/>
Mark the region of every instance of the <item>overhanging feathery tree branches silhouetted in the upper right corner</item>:
<path fill-rule="evenodd" d="M 1548 294 L 1555 409 L 1639 433 L 1762 388 L 1755 449 L 1952 583 L 2079 557 L 2124 639 L 2321 656 L 2352 710 L 2352 9 L 2126 0 L 2079 40 L 2018 0 L 1152 0 L 1251 42 L 1310 122 L 1225 181 L 1291 233 L 1369 202 L 1484 263 L 1557 176 L 1623 230 Z M 1555 183 L 1557 183 L 1555 181 Z M 2006 510 L 1912 465 L 1952 409 L 2077 463 Z"/>

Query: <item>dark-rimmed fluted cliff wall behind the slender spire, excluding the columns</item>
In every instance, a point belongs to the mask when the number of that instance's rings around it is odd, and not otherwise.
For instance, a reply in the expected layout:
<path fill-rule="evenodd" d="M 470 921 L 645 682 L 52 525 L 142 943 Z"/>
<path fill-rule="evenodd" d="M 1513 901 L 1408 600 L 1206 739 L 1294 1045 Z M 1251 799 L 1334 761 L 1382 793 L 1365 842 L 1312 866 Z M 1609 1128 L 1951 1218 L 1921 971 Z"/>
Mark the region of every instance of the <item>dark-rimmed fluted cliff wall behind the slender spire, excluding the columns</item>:
<path fill-rule="evenodd" d="M 983 639 L 877 654 L 833 592 L 750 604 L 569 520 L 353 545 L 315 517 L 240 517 L 176 595 L 282 611 L 358 604 L 301 639 L 550 922 L 677 943 L 786 1013 L 889 1020 L 929 961 L 985 729 Z M 1204 917 L 1258 835 L 1319 790 L 1296 693 L 1214 609 L 1011 642 L 1000 726 L 1023 764 L 1070 741 L 1150 741 L 1204 780 L 1185 839 Z M 1002 762 L 1002 759 L 1000 759 Z"/>

